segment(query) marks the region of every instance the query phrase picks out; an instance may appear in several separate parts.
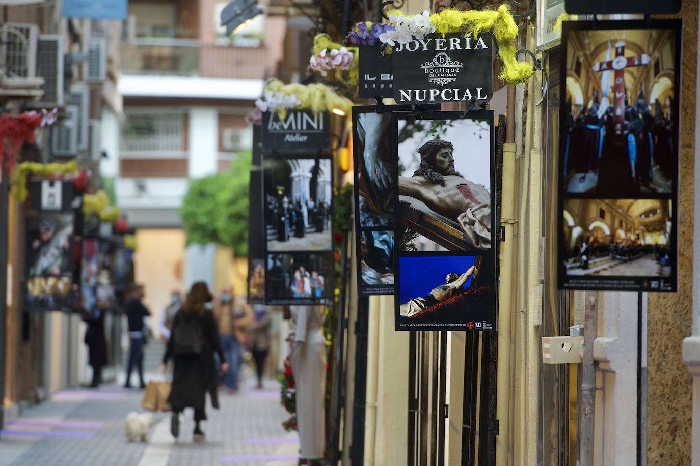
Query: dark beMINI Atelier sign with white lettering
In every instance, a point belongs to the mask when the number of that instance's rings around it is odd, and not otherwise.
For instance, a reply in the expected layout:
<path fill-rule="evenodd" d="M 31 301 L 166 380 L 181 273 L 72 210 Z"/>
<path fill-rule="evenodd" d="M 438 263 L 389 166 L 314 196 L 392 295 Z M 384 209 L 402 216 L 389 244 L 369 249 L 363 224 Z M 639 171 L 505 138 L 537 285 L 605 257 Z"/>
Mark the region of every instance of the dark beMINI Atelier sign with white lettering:
<path fill-rule="evenodd" d="M 330 149 L 330 124 L 327 112 L 288 111 L 262 114 L 262 150 L 309 152 Z"/>

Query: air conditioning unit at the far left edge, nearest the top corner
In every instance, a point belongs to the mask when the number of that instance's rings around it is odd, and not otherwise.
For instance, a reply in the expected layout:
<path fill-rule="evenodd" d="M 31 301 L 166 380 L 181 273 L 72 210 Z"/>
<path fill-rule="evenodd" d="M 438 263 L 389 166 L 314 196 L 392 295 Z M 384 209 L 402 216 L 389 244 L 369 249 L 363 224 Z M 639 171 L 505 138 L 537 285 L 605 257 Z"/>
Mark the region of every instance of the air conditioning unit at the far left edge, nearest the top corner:
<path fill-rule="evenodd" d="M 0 70 L 9 78 L 36 76 L 36 24 L 6 22 L 0 27 Z"/>

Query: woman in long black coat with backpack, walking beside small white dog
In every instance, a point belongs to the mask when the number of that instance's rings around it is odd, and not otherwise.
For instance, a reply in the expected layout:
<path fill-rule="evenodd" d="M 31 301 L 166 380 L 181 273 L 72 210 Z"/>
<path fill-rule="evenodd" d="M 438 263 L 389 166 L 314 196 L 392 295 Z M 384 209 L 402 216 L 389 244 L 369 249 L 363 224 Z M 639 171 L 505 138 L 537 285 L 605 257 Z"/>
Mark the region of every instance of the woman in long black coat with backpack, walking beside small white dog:
<path fill-rule="evenodd" d="M 207 419 L 207 414 L 204 412 L 204 398 L 207 391 L 211 395 L 211 405 L 218 409 L 216 395 L 218 377 L 214 366 L 214 351 L 221 361 L 225 361 L 225 358 L 214 314 L 205 307 L 211 299 L 206 283 L 193 284 L 181 310 L 175 314 L 170 339 L 163 356 L 164 370 L 171 358 L 174 361 L 168 403 L 173 411 L 170 432 L 176 438 L 180 433 L 180 413 L 185 408 L 194 408 L 194 439 L 204 439 L 200 422 Z M 221 370 L 228 371 L 228 363 L 223 363 Z"/>

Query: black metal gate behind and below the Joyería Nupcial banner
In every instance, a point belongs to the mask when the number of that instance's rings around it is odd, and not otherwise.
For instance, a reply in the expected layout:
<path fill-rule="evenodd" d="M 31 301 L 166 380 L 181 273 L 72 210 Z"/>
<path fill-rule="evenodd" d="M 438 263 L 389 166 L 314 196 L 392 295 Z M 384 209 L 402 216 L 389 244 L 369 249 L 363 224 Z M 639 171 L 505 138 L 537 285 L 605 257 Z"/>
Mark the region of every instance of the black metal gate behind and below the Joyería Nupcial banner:
<path fill-rule="evenodd" d="M 501 115 L 496 127 L 496 206 L 493 214 L 497 219 L 500 218 L 504 142 L 505 118 Z M 498 257 L 500 245 L 497 243 L 495 246 Z M 451 425 L 451 428 L 461 430 L 459 447 L 462 465 L 495 465 L 496 435 L 499 430 L 496 419 L 498 333 L 454 332 L 451 337 L 461 339 L 461 335 L 464 346 L 463 383 L 458 387 L 461 393 L 449 393 L 449 400 L 460 398 L 461 422 Z M 450 418 L 450 401 L 447 399 L 447 385 L 450 382 L 447 379 L 448 340 L 447 332 L 411 332 L 409 337 L 409 465 L 447 464 L 445 445 Z M 452 355 L 455 356 L 454 353 Z M 450 458 L 449 463 L 454 464 L 454 458 Z"/>

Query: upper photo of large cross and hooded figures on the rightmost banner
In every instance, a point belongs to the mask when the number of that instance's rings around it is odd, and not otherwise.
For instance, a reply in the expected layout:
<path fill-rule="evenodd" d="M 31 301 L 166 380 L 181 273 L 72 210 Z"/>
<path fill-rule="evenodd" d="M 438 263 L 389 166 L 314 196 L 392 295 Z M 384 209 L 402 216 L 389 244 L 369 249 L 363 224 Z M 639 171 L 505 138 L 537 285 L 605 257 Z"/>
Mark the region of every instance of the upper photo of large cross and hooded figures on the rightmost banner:
<path fill-rule="evenodd" d="M 566 192 L 671 194 L 678 151 L 675 31 L 571 31 L 566 60 Z"/>

